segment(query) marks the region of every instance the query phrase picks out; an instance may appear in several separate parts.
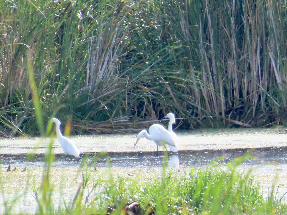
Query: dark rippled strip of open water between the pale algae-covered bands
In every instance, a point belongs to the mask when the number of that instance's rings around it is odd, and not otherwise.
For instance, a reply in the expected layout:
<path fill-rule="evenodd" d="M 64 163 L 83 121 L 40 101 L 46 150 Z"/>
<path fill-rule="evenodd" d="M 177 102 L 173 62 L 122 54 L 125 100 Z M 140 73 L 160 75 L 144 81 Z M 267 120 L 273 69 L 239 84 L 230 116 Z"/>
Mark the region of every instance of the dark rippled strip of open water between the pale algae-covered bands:
<path fill-rule="evenodd" d="M 211 161 L 218 161 L 226 164 L 236 157 L 241 157 L 249 149 L 219 149 L 219 150 L 181 150 L 178 153 L 160 152 L 107 152 L 94 161 L 95 153 L 82 153 L 88 164 L 96 167 L 127 167 L 127 168 L 146 168 L 161 167 L 162 162 L 167 155 L 170 166 L 174 167 L 199 167 L 207 165 Z M 97 155 L 97 153 L 96 153 Z M 287 163 L 287 147 L 264 147 L 253 148 L 253 159 L 247 159 L 246 165 L 259 164 L 285 164 Z M 0 155 L 2 167 L 6 168 L 9 164 L 13 167 L 35 167 L 43 166 L 45 154 L 27 155 L 27 154 L 3 154 Z M 178 164 L 177 164 L 178 162 Z M 81 158 L 73 156 L 56 154 L 53 162 L 54 167 L 79 167 L 82 163 Z"/>

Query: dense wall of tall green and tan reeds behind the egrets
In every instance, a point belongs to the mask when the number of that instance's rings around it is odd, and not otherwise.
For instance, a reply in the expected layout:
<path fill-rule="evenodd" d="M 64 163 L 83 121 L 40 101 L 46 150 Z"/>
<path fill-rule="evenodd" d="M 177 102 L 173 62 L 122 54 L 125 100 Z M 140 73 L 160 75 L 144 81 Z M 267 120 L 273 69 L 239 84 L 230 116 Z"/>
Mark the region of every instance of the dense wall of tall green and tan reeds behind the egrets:
<path fill-rule="evenodd" d="M 185 129 L 285 125 L 286 14 L 267 0 L 1 1 L 0 133 L 44 133 L 33 90 L 44 122 L 73 134 L 168 112 Z"/>

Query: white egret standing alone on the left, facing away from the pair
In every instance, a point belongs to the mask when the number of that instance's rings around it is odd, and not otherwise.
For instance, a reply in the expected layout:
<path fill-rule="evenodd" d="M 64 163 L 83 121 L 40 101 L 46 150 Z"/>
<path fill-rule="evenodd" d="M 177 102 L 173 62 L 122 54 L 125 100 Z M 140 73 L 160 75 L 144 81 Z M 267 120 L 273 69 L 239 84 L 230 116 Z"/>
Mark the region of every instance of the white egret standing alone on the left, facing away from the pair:
<path fill-rule="evenodd" d="M 77 149 L 77 146 L 75 146 L 75 144 L 73 143 L 73 141 L 65 136 L 63 136 L 63 134 L 61 133 L 60 130 L 60 125 L 61 122 L 57 119 L 57 118 L 53 118 L 52 122 L 55 122 L 56 124 L 56 132 L 57 132 L 57 137 L 58 137 L 58 141 L 61 144 L 64 153 L 67 155 L 73 155 L 75 157 L 80 157 L 80 153 L 79 150 Z"/>

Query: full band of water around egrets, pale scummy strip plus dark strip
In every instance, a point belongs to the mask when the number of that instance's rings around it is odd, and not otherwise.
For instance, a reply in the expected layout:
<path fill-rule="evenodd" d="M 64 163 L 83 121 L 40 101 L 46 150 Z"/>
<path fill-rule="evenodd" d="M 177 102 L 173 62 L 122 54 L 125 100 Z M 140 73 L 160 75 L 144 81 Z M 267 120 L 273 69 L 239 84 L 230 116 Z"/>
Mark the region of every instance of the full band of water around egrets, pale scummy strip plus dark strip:
<path fill-rule="evenodd" d="M 158 157 L 154 142 L 145 138 L 141 138 L 134 147 L 135 136 L 135 134 L 91 135 L 73 136 L 71 139 L 87 163 L 93 163 L 94 156 L 98 156 L 100 152 L 106 153 L 98 158 L 96 167 L 108 167 L 108 165 L 127 168 L 161 167 L 165 149 L 159 147 Z M 220 163 L 226 164 L 235 157 L 244 155 L 249 148 L 253 150 L 254 159 L 245 161 L 248 165 L 284 164 L 287 159 L 285 128 L 203 130 L 179 133 L 178 136 L 179 153 L 170 151 L 166 153 L 170 166 L 174 167 L 197 167 L 206 165 L 214 159 L 219 159 Z M 7 168 L 9 164 L 17 167 L 42 166 L 47 146 L 51 141 L 53 141 L 55 167 L 79 167 L 82 159 L 64 155 L 57 139 L 2 138 L 0 139 L 2 168 Z M 32 154 L 34 156 L 30 156 Z"/>

